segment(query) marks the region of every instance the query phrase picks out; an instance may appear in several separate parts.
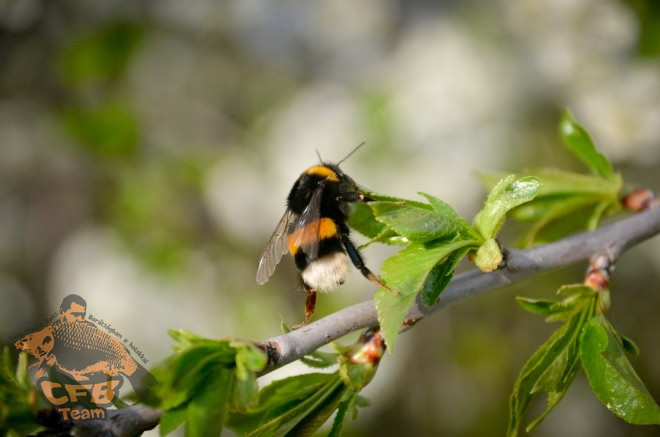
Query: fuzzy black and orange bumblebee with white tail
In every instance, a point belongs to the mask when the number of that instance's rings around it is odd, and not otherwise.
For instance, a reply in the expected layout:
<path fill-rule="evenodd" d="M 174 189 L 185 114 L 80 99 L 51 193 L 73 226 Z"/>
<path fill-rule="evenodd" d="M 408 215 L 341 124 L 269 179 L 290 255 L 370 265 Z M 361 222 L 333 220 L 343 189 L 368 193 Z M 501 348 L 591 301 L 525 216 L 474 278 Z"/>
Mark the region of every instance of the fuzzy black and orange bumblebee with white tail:
<path fill-rule="evenodd" d="M 351 203 L 371 200 L 339 168 L 361 146 L 337 164 L 321 160 L 298 177 L 287 197 L 284 216 L 261 254 L 257 268 L 259 284 L 268 281 L 287 252 L 300 270 L 307 298 L 305 320 L 295 328 L 311 319 L 318 292 L 331 291 L 344 283 L 349 259 L 369 281 L 389 289 L 364 264 L 360 251 L 349 238 L 346 224 Z"/>

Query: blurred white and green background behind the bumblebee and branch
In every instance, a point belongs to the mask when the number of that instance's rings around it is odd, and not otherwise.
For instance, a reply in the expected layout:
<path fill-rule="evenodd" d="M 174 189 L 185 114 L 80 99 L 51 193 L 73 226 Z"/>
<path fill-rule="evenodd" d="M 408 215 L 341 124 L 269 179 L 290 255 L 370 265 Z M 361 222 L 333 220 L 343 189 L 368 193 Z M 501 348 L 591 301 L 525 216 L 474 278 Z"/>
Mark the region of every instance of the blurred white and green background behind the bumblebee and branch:
<path fill-rule="evenodd" d="M 300 321 L 290 257 L 265 286 L 254 276 L 315 149 L 336 161 L 366 141 L 343 164 L 358 183 L 429 192 L 471 218 L 476 169 L 579 169 L 556 133 L 569 107 L 624 180 L 660 191 L 658 5 L 0 0 L 0 342 L 69 293 L 150 363 L 170 327 L 262 340 Z M 511 222 L 505 244 L 515 235 Z M 394 250 L 364 255 L 378 270 Z M 553 329 L 513 296 L 550 296 L 583 271 L 420 323 L 347 435 L 502 435 L 517 372 Z M 374 291 L 353 272 L 317 317 Z M 660 239 L 621 259 L 612 300 L 660 399 Z M 578 377 L 536 435 L 658 432 L 612 416 Z"/>

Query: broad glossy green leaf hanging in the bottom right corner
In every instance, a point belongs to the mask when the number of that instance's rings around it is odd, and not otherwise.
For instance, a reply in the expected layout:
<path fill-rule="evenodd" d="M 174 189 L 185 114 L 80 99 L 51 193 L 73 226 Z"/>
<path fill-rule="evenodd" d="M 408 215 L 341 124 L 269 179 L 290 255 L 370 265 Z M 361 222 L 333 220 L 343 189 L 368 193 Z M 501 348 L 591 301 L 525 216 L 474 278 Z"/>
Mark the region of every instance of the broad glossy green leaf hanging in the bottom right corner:
<path fill-rule="evenodd" d="M 612 413 L 636 425 L 660 424 L 660 407 L 602 315 L 585 326 L 580 357 L 592 390 Z"/>

